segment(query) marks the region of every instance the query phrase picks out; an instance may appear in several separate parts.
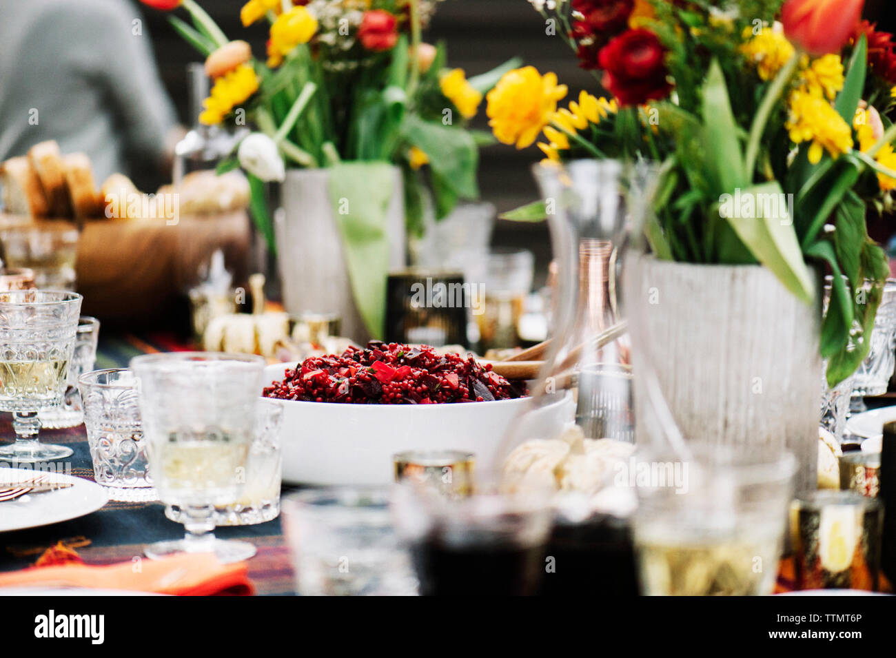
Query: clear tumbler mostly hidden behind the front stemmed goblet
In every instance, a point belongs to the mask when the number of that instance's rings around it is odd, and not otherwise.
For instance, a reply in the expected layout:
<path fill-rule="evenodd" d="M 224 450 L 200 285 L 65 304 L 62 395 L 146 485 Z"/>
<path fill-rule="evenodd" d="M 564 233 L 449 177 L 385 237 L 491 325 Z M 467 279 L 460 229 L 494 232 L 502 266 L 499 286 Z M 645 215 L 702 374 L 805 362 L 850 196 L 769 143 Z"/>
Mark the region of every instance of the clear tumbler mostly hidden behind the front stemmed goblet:
<path fill-rule="evenodd" d="M 263 398 L 255 406 L 255 433 L 246 482 L 237 501 L 215 508 L 215 526 L 253 526 L 280 515 L 280 483 L 283 474 L 283 404 Z M 184 523 L 184 510 L 176 505 L 165 507 L 165 516 Z"/>

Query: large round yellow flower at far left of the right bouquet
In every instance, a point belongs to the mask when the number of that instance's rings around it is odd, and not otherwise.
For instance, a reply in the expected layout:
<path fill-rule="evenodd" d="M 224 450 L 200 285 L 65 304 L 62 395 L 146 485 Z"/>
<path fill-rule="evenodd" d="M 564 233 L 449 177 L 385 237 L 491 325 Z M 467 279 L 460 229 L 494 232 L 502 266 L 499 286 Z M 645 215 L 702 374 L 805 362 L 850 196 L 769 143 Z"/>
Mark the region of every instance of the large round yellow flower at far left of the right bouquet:
<path fill-rule="evenodd" d="M 525 149 L 538 137 L 566 96 L 566 85 L 557 84 L 556 73 L 542 76 L 534 66 L 504 73 L 488 92 L 488 124 L 498 141 Z"/>

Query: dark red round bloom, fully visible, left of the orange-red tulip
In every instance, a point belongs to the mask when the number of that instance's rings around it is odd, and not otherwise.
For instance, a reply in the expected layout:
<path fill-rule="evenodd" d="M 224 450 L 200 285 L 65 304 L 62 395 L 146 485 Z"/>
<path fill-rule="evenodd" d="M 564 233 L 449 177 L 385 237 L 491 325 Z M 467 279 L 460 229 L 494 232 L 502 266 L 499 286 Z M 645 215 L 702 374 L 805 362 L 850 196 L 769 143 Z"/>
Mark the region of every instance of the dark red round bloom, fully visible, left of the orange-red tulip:
<path fill-rule="evenodd" d="M 603 85 L 624 106 L 665 98 L 672 88 L 663 62 L 665 55 L 659 38 L 650 30 L 625 31 L 600 50 Z"/>

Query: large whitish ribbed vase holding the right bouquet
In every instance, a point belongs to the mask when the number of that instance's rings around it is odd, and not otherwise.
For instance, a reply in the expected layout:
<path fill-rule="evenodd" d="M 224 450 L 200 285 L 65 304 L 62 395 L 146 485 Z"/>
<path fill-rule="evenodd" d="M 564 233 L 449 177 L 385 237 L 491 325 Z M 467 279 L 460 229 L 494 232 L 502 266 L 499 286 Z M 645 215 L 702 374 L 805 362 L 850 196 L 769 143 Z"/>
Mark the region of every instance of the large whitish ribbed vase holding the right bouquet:
<path fill-rule="evenodd" d="M 816 487 L 820 304 L 758 265 L 632 258 L 629 317 L 646 323 L 650 366 L 685 439 L 771 446 L 797 457 L 797 491 Z M 647 364 L 633 341 L 637 440 L 650 441 Z"/>

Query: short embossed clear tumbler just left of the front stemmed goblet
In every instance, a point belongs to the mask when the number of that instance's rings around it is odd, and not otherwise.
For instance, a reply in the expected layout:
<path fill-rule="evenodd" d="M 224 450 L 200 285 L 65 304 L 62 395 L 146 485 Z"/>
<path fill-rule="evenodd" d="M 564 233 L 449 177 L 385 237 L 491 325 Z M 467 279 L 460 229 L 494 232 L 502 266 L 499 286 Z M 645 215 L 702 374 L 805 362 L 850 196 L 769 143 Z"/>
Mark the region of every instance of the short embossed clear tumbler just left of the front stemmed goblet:
<path fill-rule="evenodd" d="M 85 372 L 78 386 L 94 479 L 111 500 L 157 500 L 134 373 L 123 368 Z"/>

